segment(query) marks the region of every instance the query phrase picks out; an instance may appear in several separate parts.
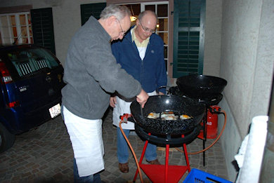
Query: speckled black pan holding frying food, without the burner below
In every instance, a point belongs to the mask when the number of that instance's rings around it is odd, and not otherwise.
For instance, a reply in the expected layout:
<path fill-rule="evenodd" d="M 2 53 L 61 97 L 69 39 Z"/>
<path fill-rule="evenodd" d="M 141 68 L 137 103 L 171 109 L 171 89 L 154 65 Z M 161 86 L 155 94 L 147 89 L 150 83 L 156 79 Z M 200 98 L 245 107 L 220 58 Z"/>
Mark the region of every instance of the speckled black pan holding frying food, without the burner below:
<path fill-rule="evenodd" d="M 141 115 L 141 107 L 138 102 L 131 103 L 131 114 L 134 121 L 145 131 L 155 135 L 182 135 L 195 128 L 204 116 L 205 106 L 189 97 L 176 95 L 155 95 L 148 98 Z M 161 118 L 148 118 L 150 112 L 161 113 L 174 111 L 175 114 L 191 116 L 185 120 L 162 120 Z"/>

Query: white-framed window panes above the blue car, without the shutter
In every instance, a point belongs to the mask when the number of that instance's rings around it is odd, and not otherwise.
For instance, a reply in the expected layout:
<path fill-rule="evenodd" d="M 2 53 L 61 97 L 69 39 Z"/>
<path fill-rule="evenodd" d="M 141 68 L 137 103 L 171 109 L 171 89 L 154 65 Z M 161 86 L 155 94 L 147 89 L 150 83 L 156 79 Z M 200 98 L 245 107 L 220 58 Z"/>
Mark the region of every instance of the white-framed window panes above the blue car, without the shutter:
<path fill-rule="evenodd" d="M 1 44 L 33 43 L 30 12 L 0 15 Z"/>

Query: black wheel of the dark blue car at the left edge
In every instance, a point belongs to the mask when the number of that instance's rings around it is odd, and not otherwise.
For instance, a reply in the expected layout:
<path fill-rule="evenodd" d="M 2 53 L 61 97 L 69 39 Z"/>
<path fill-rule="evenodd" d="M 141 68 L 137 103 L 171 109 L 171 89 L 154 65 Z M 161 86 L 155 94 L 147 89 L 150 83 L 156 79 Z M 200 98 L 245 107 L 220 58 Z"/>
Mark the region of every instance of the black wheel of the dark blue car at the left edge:
<path fill-rule="evenodd" d="M 15 141 L 15 135 L 11 134 L 6 128 L 0 123 L 0 153 L 11 148 Z"/>

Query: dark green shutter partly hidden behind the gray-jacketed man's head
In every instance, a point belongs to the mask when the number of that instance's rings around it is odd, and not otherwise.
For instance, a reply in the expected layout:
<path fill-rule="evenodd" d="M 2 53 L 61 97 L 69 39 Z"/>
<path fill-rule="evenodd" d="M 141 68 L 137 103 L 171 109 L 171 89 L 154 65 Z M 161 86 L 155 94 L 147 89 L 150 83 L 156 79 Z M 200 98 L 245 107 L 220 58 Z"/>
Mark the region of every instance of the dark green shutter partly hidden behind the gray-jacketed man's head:
<path fill-rule="evenodd" d="M 100 18 L 100 13 L 103 11 L 105 6 L 105 3 L 81 4 L 81 25 L 84 25 L 91 15 L 98 20 Z"/>

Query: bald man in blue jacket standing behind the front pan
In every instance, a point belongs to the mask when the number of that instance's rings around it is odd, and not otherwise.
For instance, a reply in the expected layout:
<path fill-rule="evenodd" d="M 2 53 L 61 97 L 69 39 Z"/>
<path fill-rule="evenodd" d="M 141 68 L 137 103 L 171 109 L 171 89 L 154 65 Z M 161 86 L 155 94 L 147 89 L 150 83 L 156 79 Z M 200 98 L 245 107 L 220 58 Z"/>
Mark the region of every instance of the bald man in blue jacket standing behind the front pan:
<path fill-rule="evenodd" d="M 143 11 L 138 15 L 136 26 L 131 27 L 124 39 L 112 43 L 112 53 L 127 73 L 141 83 L 148 95 L 157 95 L 156 90 L 161 86 L 167 86 L 167 73 L 164 62 L 164 43 L 155 33 L 157 15 L 152 11 Z M 165 89 L 159 89 L 159 95 L 164 95 Z M 126 140 L 119 129 L 119 116 L 131 114 L 130 104 L 132 100 L 126 100 L 117 95 L 110 98 L 110 106 L 113 109 L 113 124 L 117 126 L 117 156 L 121 172 L 129 172 L 129 151 Z M 134 130 L 134 123 L 122 123 L 122 128 L 129 137 L 130 130 Z M 148 163 L 159 164 L 157 160 L 157 147 L 148 144 L 145 158 Z"/>

